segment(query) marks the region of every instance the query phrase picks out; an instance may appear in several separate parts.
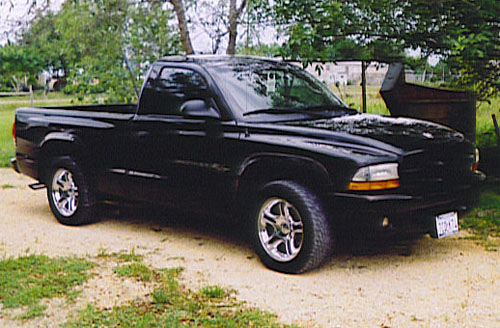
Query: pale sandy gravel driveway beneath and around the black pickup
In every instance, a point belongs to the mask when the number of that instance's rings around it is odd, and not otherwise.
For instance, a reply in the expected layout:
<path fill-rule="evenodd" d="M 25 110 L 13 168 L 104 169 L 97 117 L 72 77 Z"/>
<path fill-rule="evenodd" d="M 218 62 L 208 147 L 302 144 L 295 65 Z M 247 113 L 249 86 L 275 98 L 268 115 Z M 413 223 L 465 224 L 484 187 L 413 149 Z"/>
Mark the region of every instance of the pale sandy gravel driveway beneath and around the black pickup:
<path fill-rule="evenodd" d="M 302 275 L 266 269 L 242 241 L 238 227 L 176 213 L 108 210 L 98 223 L 63 226 L 50 213 L 45 190 L 0 169 L 0 257 L 26 253 L 89 256 L 130 251 L 153 267 L 184 267 L 181 281 L 196 290 L 218 284 L 251 306 L 304 327 L 500 327 L 500 254 L 458 236 L 387 241 L 361 252 L 341 252 Z M 112 307 L 149 290 L 102 272 L 87 282 L 76 305 Z M 57 326 L 64 301 L 51 301 L 46 318 L 0 326 Z M 67 309 L 66 309 L 67 310 Z"/>

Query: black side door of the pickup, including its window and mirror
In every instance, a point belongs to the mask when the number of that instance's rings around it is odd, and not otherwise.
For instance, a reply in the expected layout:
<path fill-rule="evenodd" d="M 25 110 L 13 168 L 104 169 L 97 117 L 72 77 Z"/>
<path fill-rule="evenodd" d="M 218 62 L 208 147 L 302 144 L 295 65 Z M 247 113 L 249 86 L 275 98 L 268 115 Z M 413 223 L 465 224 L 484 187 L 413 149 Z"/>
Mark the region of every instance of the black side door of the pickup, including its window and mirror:
<path fill-rule="evenodd" d="M 164 66 L 147 81 L 131 121 L 131 196 L 175 206 L 201 206 L 222 193 L 220 115 L 204 77 Z"/>

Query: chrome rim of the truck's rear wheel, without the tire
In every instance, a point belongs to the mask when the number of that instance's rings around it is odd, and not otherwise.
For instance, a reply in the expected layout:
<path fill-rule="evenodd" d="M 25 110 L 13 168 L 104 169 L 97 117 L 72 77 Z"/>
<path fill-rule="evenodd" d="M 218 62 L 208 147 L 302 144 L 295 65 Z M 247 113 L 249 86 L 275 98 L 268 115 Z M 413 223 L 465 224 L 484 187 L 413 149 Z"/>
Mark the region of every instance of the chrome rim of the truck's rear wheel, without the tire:
<path fill-rule="evenodd" d="M 52 200 L 57 211 L 65 217 L 72 216 L 78 209 L 78 187 L 67 169 L 60 168 L 54 174 Z"/>

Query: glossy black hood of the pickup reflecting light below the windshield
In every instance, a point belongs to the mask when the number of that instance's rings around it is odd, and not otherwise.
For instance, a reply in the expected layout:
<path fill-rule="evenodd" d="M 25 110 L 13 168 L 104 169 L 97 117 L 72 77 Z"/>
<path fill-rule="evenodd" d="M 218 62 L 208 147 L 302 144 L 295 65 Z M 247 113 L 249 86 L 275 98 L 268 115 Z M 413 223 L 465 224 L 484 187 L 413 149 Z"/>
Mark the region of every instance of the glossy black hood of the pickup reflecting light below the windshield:
<path fill-rule="evenodd" d="M 368 137 L 406 151 L 421 147 L 427 148 L 431 144 L 460 143 L 464 140 L 463 134 L 443 125 L 411 118 L 373 114 L 356 114 L 285 124 Z"/>

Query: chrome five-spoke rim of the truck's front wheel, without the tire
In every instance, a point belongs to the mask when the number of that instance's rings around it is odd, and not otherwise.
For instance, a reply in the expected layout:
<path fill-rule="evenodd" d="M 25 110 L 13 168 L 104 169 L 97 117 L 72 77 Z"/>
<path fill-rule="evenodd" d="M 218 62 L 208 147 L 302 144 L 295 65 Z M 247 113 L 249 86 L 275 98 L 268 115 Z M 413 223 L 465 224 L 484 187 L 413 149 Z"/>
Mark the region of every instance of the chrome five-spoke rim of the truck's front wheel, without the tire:
<path fill-rule="evenodd" d="M 278 262 L 289 262 L 299 255 L 304 225 L 299 211 L 281 198 L 270 198 L 261 207 L 258 218 L 260 244 Z"/>

